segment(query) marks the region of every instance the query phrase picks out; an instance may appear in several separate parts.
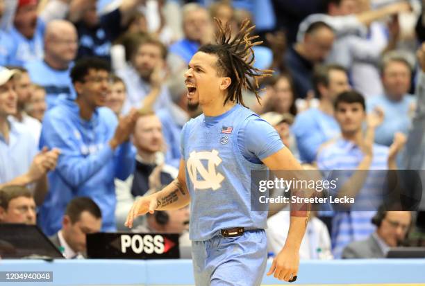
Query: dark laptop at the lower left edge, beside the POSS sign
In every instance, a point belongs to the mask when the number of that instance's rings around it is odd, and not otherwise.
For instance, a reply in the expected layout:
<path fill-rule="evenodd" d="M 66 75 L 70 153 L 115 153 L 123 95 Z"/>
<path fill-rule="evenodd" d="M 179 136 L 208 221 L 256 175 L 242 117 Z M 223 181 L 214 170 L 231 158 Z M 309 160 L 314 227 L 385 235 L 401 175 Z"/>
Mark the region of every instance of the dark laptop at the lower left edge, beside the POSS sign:
<path fill-rule="evenodd" d="M 35 225 L 0 224 L 0 258 L 64 258 L 62 253 Z"/>

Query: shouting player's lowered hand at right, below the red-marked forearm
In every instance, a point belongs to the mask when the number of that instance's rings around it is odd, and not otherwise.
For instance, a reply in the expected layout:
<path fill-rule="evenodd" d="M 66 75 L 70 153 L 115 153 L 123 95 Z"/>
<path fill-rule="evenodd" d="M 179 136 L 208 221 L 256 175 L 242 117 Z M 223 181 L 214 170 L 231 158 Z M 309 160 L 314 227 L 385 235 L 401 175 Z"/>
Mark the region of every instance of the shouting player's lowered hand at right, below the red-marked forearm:
<path fill-rule="evenodd" d="M 267 276 L 274 274 L 278 280 L 289 282 L 298 274 L 299 253 L 298 249 L 283 247 L 281 252 L 274 258 Z M 293 282 L 293 281 L 291 281 Z"/>

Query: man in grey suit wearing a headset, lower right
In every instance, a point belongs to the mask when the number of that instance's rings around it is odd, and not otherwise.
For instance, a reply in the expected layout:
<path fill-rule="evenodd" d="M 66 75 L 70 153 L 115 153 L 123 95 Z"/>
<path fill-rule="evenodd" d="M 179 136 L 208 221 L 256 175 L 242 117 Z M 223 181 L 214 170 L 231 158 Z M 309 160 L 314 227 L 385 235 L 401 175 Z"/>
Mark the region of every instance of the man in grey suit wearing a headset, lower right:
<path fill-rule="evenodd" d="M 384 208 L 372 217 L 376 231 L 366 240 L 351 242 L 342 252 L 342 258 L 385 258 L 391 247 L 400 247 L 412 224 L 408 211 L 385 211 Z"/>

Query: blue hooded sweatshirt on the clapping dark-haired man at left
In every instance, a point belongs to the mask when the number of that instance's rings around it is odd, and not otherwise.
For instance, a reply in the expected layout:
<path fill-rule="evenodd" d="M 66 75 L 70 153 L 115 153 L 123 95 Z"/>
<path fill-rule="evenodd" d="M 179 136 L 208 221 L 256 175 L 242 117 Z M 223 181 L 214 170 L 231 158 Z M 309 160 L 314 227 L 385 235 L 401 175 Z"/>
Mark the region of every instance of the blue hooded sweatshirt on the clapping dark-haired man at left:
<path fill-rule="evenodd" d="M 101 208 L 102 231 L 115 231 L 114 179 L 125 180 L 134 170 L 133 145 L 127 141 L 114 152 L 108 144 L 118 124 L 113 111 L 100 107 L 87 121 L 79 110 L 73 100 L 61 99 L 44 116 L 40 148 L 60 149 L 38 216 L 38 224 L 47 235 L 59 231 L 67 204 L 81 196 L 92 198 Z"/>

